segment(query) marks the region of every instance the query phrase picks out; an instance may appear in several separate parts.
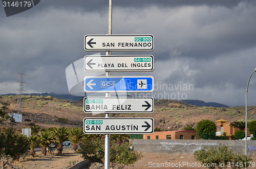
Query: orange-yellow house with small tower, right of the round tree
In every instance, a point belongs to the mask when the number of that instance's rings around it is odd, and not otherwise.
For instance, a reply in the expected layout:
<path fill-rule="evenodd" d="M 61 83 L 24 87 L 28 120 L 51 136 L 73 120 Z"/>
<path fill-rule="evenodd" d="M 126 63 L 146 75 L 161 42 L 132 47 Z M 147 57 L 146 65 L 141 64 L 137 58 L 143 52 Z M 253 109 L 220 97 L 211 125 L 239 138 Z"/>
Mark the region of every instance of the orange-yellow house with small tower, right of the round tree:
<path fill-rule="evenodd" d="M 228 122 L 227 120 L 220 119 L 220 120 L 217 120 L 216 122 L 218 126 L 217 133 L 216 133 L 217 136 L 222 136 L 225 133 L 229 139 L 233 139 L 234 133 L 240 130 L 239 128 L 234 128 L 232 126 L 229 126 L 230 124 L 232 124 L 232 122 Z M 247 135 L 250 136 L 250 133 L 248 132 Z"/>

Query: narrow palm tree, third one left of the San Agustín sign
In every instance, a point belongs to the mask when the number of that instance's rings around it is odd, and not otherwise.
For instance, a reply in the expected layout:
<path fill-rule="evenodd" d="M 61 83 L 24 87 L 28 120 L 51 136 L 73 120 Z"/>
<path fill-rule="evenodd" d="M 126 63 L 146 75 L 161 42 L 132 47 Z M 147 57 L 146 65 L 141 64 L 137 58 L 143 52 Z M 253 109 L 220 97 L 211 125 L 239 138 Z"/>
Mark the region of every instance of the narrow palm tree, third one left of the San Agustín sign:
<path fill-rule="evenodd" d="M 40 131 L 40 145 L 42 147 L 41 153 L 42 155 L 46 156 L 47 154 L 47 147 L 50 145 L 52 141 L 52 135 L 50 130 Z"/>

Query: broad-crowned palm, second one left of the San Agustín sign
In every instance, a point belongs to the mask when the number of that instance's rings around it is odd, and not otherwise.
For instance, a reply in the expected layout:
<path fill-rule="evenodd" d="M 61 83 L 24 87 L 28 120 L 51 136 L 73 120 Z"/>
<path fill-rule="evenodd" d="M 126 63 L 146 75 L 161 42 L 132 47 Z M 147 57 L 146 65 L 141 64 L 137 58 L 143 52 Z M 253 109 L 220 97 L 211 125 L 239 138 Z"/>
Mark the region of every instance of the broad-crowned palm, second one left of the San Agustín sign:
<path fill-rule="evenodd" d="M 66 127 L 55 127 L 52 129 L 53 140 L 58 143 L 57 154 L 61 154 L 63 150 L 62 143 L 69 138 L 69 132 Z"/>

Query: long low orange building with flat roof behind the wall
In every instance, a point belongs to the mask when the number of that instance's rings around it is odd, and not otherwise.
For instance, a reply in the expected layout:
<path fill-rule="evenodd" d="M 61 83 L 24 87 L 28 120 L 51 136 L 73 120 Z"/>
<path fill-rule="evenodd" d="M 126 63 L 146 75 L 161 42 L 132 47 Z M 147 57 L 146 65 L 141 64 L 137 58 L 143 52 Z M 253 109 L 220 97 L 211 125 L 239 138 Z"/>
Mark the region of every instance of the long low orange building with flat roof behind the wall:
<path fill-rule="evenodd" d="M 178 131 L 158 131 L 153 134 L 143 134 L 143 139 L 199 139 L 194 131 L 178 130 Z"/>

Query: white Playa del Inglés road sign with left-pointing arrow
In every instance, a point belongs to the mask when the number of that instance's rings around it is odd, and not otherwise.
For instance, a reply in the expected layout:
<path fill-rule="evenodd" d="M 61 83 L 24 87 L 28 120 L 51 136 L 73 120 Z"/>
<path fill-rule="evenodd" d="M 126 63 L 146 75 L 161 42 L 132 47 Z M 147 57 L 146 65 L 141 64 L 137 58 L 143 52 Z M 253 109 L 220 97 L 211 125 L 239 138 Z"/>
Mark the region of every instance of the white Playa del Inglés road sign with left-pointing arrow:
<path fill-rule="evenodd" d="M 153 71 L 152 55 L 90 55 L 84 57 L 86 71 Z"/>

